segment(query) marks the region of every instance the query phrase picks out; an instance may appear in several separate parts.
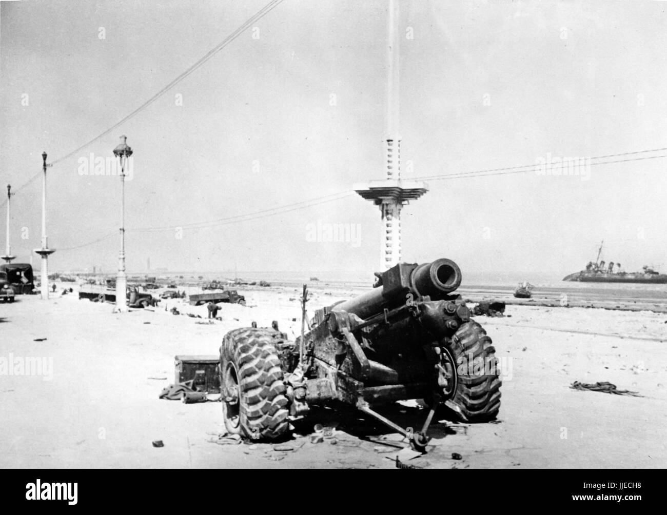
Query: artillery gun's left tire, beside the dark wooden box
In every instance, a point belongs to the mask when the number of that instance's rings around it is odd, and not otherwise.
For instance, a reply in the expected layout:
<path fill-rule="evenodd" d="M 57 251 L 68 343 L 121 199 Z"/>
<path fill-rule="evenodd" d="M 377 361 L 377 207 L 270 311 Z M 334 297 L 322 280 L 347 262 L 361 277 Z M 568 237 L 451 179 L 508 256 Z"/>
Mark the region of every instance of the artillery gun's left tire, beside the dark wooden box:
<path fill-rule="evenodd" d="M 274 343 L 281 334 L 244 328 L 225 334 L 220 348 L 220 385 L 225 428 L 252 440 L 289 436 L 289 412 L 283 370 Z M 235 388 L 236 392 L 229 391 Z M 237 393 L 237 394 L 236 394 Z M 225 398 L 237 402 L 227 402 Z"/>

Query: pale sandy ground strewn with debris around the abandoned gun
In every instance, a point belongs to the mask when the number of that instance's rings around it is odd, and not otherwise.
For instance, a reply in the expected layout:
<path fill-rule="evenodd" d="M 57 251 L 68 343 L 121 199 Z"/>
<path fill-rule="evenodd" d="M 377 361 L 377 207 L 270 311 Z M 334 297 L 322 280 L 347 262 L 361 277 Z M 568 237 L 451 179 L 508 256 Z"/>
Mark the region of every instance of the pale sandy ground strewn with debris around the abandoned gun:
<path fill-rule="evenodd" d="M 58 284 L 57 291 L 70 286 Z M 0 375 L 0 466 L 394 468 L 387 458 L 404 442 L 354 416 L 313 413 L 276 450 L 263 443 L 220 444 L 219 402 L 158 398 L 174 382 L 177 354 L 215 355 L 225 332 L 253 321 L 261 327 L 277 320 L 290 338 L 299 332 L 296 288 L 239 287 L 239 293 L 247 306 L 223 304 L 222 320 L 210 323 L 205 306 L 183 300 L 127 314 L 114 314 L 111 304 L 79 300 L 76 292 L 49 300 L 17 296 L 13 304 L 2 304 L 0 357 L 43 358 L 44 367 L 41 375 L 19 375 L 16 368 L 15 374 Z M 350 293 L 322 285 L 312 294 L 311 310 Z M 168 311 L 173 306 L 202 318 L 174 316 Z M 626 310 L 510 305 L 504 318 L 477 317 L 503 368 L 498 420 L 438 420 L 427 454 L 410 464 L 667 466 L 667 316 L 621 308 Z M 574 381 L 609 381 L 640 396 L 572 390 Z M 386 409 L 404 426 L 421 425 L 426 416 L 416 402 Z M 312 443 L 315 424 L 333 428 L 335 438 Z M 153 440 L 164 447 L 153 447 Z M 452 459 L 452 453 L 462 459 Z"/>

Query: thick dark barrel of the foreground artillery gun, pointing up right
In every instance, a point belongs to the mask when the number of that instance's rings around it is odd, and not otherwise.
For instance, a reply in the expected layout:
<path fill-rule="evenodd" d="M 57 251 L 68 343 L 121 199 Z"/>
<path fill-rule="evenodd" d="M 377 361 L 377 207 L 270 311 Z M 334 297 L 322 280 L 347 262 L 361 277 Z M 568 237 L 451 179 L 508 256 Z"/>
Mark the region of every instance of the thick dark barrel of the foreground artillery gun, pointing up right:
<path fill-rule="evenodd" d="M 461 284 L 461 270 L 452 260 L 441 258 L 422 265 L 398 264 L 382 274 L 382 288 L 374 288 L 353 299 L 336 304 L 332 311 L 345 311 L 369 318 L 406 302 L 406 294 L 432 298 L 454 292 Z"/>

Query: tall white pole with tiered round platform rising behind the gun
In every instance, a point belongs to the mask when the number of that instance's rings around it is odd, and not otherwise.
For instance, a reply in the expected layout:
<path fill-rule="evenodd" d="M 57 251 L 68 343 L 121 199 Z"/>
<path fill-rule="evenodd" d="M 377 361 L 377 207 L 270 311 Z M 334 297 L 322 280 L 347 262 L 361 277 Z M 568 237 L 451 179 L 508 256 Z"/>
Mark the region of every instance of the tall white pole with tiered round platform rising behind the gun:
<path fill-rule="evenodd" d="M 387 135 L 384 138 L 386 179 L 358 183 L 354 190 L 364 199 L 380 207 L 382 215 L 382 247 L 380 271 L 387 270 L 402 260 L 401 211 L 410 200 L 416 200 L 428 186 L 421 181 L 401 179 L 400 121 L 400 55 L 399 8 L 397 0 L 389 0 L 387 21 Z"/>

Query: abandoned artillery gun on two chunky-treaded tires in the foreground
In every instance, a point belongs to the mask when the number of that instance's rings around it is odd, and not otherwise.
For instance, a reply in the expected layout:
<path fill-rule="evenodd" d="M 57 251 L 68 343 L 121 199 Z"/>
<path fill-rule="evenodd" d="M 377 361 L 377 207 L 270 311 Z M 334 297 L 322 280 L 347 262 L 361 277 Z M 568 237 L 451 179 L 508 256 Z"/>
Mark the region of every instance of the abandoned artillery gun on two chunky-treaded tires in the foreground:
<path fill-rule="evenodd" d="M 443 405 L 463 422 L 496 418 L 501 381 L 495 350 L 454 294 L 461 284 L 458 266 L 446 259 L 398 264 L 376 276 L 370 292 L 317 310 L 296 342 L 268 328 L 225 334 L 219 373 L 227 431 L 279 440 L 289 436 L 290 417 L 342 402 L 423 451 Z M 374 410 L 408 399 L 428 404 L 418 432 Z"/>

